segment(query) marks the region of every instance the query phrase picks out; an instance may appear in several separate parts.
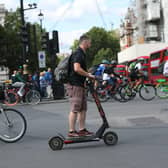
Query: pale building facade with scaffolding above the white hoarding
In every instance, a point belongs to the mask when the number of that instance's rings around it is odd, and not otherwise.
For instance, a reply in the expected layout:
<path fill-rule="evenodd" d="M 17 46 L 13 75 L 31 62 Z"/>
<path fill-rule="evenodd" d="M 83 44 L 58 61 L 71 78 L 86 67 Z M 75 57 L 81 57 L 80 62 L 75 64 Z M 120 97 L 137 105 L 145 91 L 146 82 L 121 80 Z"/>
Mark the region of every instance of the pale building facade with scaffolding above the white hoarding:
<path fill-rule="evenodd" d="M 120 46 L 168 43 L 168 0 L 135 0 L 120 25 Z"/>

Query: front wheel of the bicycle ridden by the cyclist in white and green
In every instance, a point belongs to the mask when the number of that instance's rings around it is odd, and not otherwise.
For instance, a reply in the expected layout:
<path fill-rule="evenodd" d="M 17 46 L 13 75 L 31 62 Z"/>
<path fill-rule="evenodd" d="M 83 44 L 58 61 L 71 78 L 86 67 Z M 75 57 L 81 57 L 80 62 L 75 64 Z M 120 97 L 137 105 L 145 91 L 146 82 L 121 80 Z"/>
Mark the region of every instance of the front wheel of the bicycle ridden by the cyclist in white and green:
<path fill-rule="evenodd" d="M 153 85 L 142 85 L 139 88 L 139 96 L 146 101 L 153 100 L 156 96 L 156 89 Z"/>

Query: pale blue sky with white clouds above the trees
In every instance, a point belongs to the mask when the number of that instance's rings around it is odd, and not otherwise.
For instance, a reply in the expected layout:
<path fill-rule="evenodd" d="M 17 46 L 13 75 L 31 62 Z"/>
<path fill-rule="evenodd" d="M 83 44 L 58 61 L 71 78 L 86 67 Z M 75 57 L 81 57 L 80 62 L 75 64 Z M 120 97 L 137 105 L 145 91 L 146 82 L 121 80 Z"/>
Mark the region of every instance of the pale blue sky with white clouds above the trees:
<path fill-rule="evenodd" d="M 38 14 L 44 14 L 43 28 L 59 32 L 60 52 L 70 52 L 75 39 L 93 26 L 106 30 L 119 28 L 130 0 L 23 0 L 24 8 L 37 3 L 37 8 L 25 11 L 27 22 L 39 22 Z M 5 8 L 14 10 L 20 7 L 20 0 L 0 0 Z"/>

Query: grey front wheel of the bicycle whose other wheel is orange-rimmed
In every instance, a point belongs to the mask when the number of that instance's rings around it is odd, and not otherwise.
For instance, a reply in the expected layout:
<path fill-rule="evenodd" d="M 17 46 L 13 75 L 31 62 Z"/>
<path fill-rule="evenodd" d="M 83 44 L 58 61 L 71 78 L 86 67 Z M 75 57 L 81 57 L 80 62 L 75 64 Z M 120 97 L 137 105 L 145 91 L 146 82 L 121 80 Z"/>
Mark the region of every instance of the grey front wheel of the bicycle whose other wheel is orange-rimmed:
<path fill-rule="evenodd" d="M 41 101 L 40 93 L 37 90 L 29 90 L 25 98 L 26 102 L 31 105 L 38 104 Z"/>

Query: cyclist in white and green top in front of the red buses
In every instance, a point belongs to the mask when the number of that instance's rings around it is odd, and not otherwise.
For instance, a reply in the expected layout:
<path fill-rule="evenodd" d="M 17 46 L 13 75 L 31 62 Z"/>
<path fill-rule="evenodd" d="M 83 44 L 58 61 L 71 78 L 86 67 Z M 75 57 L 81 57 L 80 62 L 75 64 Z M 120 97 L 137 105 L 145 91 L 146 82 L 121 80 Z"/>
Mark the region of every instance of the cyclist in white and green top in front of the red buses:
<path fill-rule="evenodd" d="M 131 88 L 137 90 L 139 84 L 144 81 L 144 72 L 142 71 L 142 64 L 144 63 L 144 58 L 139 58 L 137 61 L 132 62 L 129 65 L 129 77 L 131 80 Z"/>

